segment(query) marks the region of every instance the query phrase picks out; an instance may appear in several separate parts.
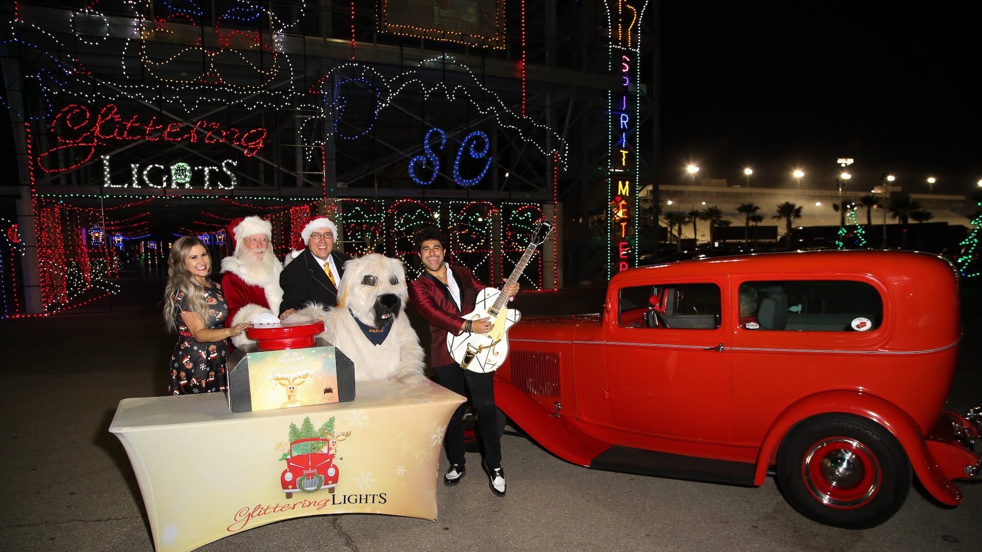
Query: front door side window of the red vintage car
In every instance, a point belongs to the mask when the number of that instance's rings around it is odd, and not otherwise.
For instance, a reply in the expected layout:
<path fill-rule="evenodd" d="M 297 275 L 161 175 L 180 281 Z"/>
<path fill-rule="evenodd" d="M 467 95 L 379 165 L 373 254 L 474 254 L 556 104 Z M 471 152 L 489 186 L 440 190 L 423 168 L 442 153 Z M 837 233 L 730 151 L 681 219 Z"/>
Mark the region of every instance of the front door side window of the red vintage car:
<path fill-rule="evenodd" d="M 716 284 L 637 286 L 621 290 L 618 323 L 633 328 L 716 329 L 720 327 Z"/>

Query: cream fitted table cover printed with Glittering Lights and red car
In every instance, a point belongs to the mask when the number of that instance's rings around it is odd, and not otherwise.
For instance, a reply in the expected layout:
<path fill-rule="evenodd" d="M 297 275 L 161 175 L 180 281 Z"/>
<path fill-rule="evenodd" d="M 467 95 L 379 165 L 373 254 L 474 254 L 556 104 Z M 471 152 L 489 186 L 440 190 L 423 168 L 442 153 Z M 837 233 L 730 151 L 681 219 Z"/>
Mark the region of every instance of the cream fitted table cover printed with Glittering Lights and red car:
<path fill-rule="evenodd" d="M 233 414 L 224 394 L 124 399 L 109 431 L 136 472 L 157 552 L 323 514 L 437 518 L 443 435 L 460 395 L 358 384 L 357 399 Z M 175 467 L 193 459 L 193 484 Z M 234 461 L 232 460 L 234 459 Z"/>

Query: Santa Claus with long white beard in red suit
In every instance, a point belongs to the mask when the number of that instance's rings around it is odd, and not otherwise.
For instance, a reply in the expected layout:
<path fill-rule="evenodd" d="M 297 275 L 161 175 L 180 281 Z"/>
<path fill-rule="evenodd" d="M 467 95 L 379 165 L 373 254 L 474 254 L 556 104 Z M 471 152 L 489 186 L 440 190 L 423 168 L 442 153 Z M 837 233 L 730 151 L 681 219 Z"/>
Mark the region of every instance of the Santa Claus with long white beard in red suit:
<path fill-rule="evenodd" d="M 283 301 L 283 265 L 273 253 L 272 233 L 272 225 L 257 216 L 239 218 L 229 225 L 229 237 L 236 244 L 235 254 L 222 259 L 222 293 L 229 305 L 229 327 L 243 322 L 262 323 L 264 319 L 277 321 Z M 236 347 L 251 341 L 245 333 L 232 338 Z"/>

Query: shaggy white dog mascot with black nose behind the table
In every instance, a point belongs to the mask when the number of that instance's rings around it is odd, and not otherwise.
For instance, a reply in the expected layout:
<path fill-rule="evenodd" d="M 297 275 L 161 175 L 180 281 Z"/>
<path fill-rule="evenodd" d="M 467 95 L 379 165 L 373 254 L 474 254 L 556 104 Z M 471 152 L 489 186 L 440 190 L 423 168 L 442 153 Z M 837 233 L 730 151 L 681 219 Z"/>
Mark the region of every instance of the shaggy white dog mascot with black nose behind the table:
<path fill-rule="evenodd" d="M 403 263 L 370 253 L 345 263 L 337 306 L 324 310 L 323 306 L 312 304 L 287 321 L 323 320 L 324 332 L 319 337 L 352 359 L 355 381 L 420 383 L 426 380 L 424 353 L 406 316 L 408 297 Z M 372 328 L 391 325 L 385 341 L 374 345 L 362 333 L 355 317 Z"/>

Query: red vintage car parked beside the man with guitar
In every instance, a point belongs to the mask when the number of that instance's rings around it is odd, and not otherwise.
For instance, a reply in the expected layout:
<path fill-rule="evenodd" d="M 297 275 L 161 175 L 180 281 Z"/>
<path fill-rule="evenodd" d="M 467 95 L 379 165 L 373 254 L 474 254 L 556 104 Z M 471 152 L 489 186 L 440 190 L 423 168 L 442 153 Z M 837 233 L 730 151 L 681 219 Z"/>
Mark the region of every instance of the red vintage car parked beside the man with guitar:
<path fill-rule="evenodd" d="M 741 312 L 742 308 L 742 312 Z M 499 408 L 593 469 L 740 485 L 798 512 L 882 524 L 916 475 L 943 504 L 978 478 L 980 416 L 944 410 L 961 328 L 945 260 L 800 251 L 611 279 L 603 312 L 524 317 Z"/>

